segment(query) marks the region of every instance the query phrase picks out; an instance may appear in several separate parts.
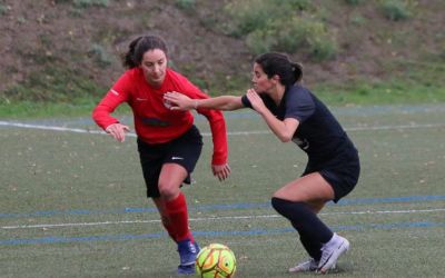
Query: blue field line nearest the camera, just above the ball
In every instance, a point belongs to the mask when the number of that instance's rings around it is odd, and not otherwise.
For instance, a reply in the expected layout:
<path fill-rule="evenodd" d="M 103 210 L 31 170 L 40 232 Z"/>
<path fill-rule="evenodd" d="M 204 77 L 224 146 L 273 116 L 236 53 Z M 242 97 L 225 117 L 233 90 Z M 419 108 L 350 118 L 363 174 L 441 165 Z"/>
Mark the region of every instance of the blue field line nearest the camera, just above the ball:
<path fill-rule="evenodd" d="M 443 228 L 445 222 L 394 222 L 394 224 L 364 224 L 364 225 L 342 225 L 334 226 L 333 230 L 367 230 L 367 229 L 406 229 L 406 228 Z M 286 232 L 296 232 L 293 228 L 279 229 L 251 229 L 251 230 L 210 230 L 194 231 L 198 237 L 234 237 L 234 236 L 267 236 Z M 166 232 L 154 232 L 142 235 L 108 235 L 108 236 L 90 236 L 90 237 L 44 237 L 44 238 L 24 238 L 24 239 L 3 239 L 0 240 L 0 246 L 19 246 L 19 245 L 46 245 L 46 244 L 69 244 L 81 241 L 122 241 L 122 240 L 139 240 L 168 237 Z"/>

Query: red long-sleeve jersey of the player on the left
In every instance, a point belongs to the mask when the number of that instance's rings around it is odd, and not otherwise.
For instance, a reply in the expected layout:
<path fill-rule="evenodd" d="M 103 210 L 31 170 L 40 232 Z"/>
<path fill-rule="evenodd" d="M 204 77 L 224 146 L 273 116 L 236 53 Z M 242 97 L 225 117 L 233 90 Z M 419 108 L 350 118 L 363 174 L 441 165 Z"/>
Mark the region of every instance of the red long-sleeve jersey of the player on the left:
<path fill-rule="evenodd" d="M 111 87 L 92 111 L 92 119 L 106 129 L 109 125 L 119 122 L 111 113 L 120 103 L 127 102 L 132 109 L 136 133 L 141 140 L 148 143 L 171 141 L 191 127 L 194 116 L 189 111 L 169 110 L 164 103 L 164 93 L 168 91 L 178 91 L 192 99 L 208 98 L 187 78 L 169 68 L 160 88 L 150 87 L 142 70 L 134 68 L 127 70 Z M 198 112 L 210 123 L 214 141 L 212 163 L 226 163 L 227 133 L 222 113 L 210 109 L 198 109 Z"/>

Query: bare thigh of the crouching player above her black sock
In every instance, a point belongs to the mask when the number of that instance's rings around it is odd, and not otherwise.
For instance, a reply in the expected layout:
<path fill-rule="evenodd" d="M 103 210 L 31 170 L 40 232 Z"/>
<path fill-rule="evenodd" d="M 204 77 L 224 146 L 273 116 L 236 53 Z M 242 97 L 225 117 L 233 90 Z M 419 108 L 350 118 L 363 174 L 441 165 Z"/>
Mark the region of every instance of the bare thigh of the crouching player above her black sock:
<path fill-rule="evenodd" d="M 285 185 L 274 193 L 274 197 L 304 201 L 322 209 L 322 203 L 334 199 L 334 190 L 319 172 L 312 172 Z"/>

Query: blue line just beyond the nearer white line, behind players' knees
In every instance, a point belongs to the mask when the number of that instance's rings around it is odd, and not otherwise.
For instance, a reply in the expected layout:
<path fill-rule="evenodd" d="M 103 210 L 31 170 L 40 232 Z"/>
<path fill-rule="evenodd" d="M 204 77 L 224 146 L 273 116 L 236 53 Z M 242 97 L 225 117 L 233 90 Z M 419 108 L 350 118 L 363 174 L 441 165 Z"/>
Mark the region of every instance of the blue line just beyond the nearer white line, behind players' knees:
<path fill-rule="evenodd" d="M 336 206 L 387 203 L 387 202 L 418 202 L 418 201 L 438 201 L 438 200 L 445 200 L 445 196 L 406 196 L 406 197 L 389 197 L 389 198 L 343 199 Z M 333 202 L 329 202 L 328 205 L 333 205 Z M 189 210 L 208 211 L 208 210 L 231 210 L 231 209 L 261 209 L 270 207 L 271 206 L 269 202 L 240 202 L 240 203 L 189 206 Z M 110 209 L 110 210 L 71 209 L 71 210 L 44 210 L 44 211 L 22 212 L 22 214 L 1 212 L 0 218 L 110 215 L 110 214 L 129 214 L 129 212 L 157 212 L 157 209 L 154 207 L 147 207 L 147 208 L 122 208 L 122 209 Z"/>

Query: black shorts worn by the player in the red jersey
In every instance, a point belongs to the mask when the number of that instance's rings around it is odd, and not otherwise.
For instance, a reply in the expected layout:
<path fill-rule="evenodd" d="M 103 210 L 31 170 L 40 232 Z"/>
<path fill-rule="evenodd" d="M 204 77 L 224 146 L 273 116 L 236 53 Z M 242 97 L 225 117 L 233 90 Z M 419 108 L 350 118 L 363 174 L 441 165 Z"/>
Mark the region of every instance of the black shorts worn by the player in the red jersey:
<path fill-rule="evenodd" d="M 158 181 L 165 163 L 182 166 L 188 175 L 184 180 L 190 185 L 194 171 L 202 149 L 202 137 L 198 128 L 191 126 L 187 132 L 166 143 L 147 143 L 138 138 L 138 151 L 147 186 L 147 197 L 160 197 Z"/>

